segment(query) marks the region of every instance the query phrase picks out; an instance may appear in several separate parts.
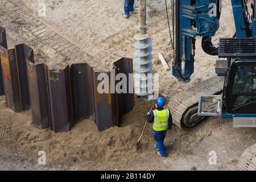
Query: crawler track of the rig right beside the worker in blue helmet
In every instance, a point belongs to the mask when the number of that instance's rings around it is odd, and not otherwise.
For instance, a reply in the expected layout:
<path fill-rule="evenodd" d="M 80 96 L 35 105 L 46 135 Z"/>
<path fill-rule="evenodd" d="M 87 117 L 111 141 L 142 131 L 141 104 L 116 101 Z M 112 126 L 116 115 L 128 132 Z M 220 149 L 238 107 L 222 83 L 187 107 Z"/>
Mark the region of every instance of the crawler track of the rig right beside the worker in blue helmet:
<path fill-rule="evenodd" d="M 199 96 L 221 92 L 223 85 L 223 77 L 213 77 L 173 96 L 167 106 L 171 110 L 174 124 L 180 128 L 181 123 L 188 127 L 195 126 L 202 119 L 197 116 Z"/>

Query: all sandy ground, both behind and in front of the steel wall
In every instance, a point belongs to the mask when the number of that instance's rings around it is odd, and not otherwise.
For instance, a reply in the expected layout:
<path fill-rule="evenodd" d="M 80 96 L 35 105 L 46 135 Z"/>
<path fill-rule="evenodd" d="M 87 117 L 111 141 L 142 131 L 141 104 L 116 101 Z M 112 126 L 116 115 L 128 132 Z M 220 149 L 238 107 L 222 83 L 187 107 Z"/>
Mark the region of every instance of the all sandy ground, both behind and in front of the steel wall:
<path fill-rule="evenodd" d="M 38 2 L 1 0 L 0 24 L 7 30 L 9 48 L 26 43 L 34 48 L 35 61 L 51 68 L 87 62 L 97 69 L 108 69 L 119 57 L 133 57 L 138 15 L 124 19 L 121 1 L 45 1 L 46 17 L 38 17 Z M 223 3 L 221 28 L 214 42 L 234 34 L 230 3 Z M 171 97 L 214 76 L 216 57 L 203 53 L 200 38 L 196 43 L 195 74 L 189 84 L 180 84 L 170 72 L 164 72 L 157 54 L 162 52 L 168 63 L 172 56 L 164 1 L 147 4 L 153 71 L 161 77 L 160 93 Z M 6 109 L 1 97 L 0 169 L 234 170 L 239 169 L 243 150 L 256 143 L 255 129 L 233 129 L 230 121 L 208 118 L 193 129 L 174 127 L 168 132 L 165 144 L 170 156 L 166 159 L 156 155 L 151 126 L 147 126 L 142 150 L 136 152 L 135 143 L 151 104 L 135 98 L 133 111 L 122 118 L 119 128 L 99 133 L 87 119 L 70 132 L 55 134 L 32 126 L 30 111 L 13 113 Z M 36 165 L 39 150 L 46 152 L 46 167 Z M 210 151 L 217 154 L 216 165 L 208 163 Z M 22 160 L 16 154 L 22 155 Z"/>

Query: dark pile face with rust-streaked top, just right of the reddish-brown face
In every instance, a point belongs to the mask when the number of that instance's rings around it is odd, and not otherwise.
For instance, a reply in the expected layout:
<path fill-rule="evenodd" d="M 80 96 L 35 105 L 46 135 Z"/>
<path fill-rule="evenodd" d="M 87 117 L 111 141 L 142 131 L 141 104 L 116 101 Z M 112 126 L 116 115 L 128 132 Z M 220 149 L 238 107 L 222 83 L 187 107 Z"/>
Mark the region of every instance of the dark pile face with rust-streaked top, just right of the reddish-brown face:
<path fill-rule="evenodd" d="M 72 125 L 68 69 L 67 66 L 47 70 L 51 123 L 55 133 L 69 131 Z"/>

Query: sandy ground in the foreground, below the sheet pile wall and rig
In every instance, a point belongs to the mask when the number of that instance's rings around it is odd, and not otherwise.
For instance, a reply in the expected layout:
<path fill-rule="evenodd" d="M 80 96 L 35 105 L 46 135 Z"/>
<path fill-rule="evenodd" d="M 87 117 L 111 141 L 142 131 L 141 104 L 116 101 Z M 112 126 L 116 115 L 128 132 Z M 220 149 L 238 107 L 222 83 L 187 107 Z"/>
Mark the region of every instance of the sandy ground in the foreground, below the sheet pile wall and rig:
<path fill-rule="evenodd" d="M 0 151 L 11 155 L 24 154 L 25 158 L 35 162 L 39 158 L 38 151 L 45 151 L 49 166 L 72 170 L 233 170 L 239 169 L 237 163 L 243 150 L 256 142 L 255 129 L 233 129 L 232 122 L 209 118 L 193 129 L 174 127 L 169 131 L 165 144 L 170 156 L 166 159 L 156 155 L 152 129 L 148 125 L 142 150 L 137 152 L 135 143 L 151 103 L 135 101 L 134 110 L 123 117 L 119 128 L 99 133 L 94 123 L 87 119 L 77 123 L 69 133 L 55 134 L 32 126 L 30 111 L 17 114 L 3 109 L 3 100 Z M 142 109 L 141 105 L 146 107 Z M 216 165 L 208 163 L 210 151 L 217 154 Z M 11 163 L 1 160 L 1 163 L 6 162 Z"/>

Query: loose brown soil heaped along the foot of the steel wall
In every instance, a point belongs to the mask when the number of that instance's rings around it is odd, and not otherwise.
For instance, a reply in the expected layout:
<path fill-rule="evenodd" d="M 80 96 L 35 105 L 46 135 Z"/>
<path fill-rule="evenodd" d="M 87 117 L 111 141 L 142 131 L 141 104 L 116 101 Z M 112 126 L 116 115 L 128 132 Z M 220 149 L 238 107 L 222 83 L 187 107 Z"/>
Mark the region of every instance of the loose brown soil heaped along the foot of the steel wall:
<path fill-rule="evenodd" d="M 72 131 L 57 134 L 32 126 L 30 111 L 16 114 L 3 109 L 3 97 L 0 104 L 1 152 L 19 151 L 36 160 L 39 158 L 38 151 L 45 151 L 48 164 L 71 166 L 82 161 L 106 162 L 114 159 L 114 162 L 120 162 L 127 156 L 137 155 L 135 144 L 143 127 L 146 109 L 152 102 L 137 99 L 134 110 L 123 117 L 121 127 L 115 126 L 100 133 L 93 121 L 86 119 L 77 123 Z M 150 135 L 143 140 L 152 142 Z"/>

